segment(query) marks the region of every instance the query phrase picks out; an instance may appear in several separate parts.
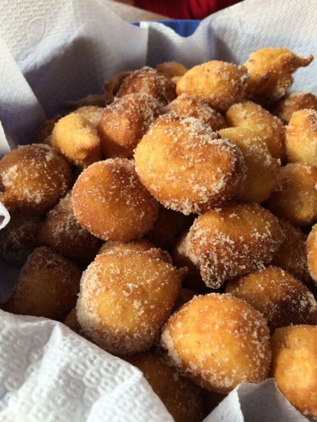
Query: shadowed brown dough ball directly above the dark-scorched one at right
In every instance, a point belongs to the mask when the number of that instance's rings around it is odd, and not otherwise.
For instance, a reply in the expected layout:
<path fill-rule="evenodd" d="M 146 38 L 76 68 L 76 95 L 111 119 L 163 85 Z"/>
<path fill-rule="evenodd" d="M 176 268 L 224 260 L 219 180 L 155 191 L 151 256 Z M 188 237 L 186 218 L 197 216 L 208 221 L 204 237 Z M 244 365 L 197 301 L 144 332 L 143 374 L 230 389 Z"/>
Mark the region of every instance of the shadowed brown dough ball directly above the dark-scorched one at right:
<path fill-rule="evenodd" d="M 284 239 L 271 264 L 289 272 L 295 278 L 309 283 L 310 274 L 306 259 L 307 235 L 286 220 L 278 219 L 278 222 Z"/>

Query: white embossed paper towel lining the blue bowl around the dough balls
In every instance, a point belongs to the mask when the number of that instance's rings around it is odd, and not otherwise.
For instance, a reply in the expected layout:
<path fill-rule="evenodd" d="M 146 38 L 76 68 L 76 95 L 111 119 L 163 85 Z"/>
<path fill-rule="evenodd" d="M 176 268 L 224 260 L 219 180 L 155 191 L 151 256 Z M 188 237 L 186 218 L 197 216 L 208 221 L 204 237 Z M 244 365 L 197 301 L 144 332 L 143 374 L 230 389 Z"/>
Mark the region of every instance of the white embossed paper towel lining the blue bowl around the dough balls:
<path fill-rule="evenodd" d="M 167 60 L 242 64 L 261 47 L 317 50 L 317 8 L 304 0 L 246 0 L 206 18 L 182 38 L 155 22 L 132 26 L 101 0 L 4 0 L 0 15 L 0 156 L 32 141 L 68 100 L 102 92 L 115 73 Z M 296 73 L 316 92 L 317 62 Z M 8 214 L 0 207 L 2 228 Z M 0 298 L 18 268 L 0 261 Z M 0 422 L 171 421 L 140 371 L 44 318 L 0 312 Z M 307 421 L 274 380 L 242 383 L 206 418 Z"/>

